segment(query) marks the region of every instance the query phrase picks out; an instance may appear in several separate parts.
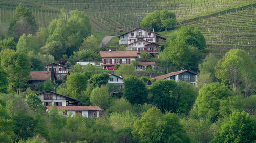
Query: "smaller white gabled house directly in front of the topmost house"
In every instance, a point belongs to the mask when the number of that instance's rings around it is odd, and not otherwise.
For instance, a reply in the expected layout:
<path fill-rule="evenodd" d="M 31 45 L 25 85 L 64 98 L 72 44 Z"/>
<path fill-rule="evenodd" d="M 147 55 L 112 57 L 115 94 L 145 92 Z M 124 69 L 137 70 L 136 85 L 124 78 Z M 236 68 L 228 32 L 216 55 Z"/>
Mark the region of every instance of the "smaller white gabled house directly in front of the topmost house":
<path fill-rule="evenodd" d="M 158 57 L 158 47 L 160 45 L 153 43 L 153 42 L 148 42 L 145 40 L 139 40 L 133 43 L 130 43 L 128 45 L 126 45 L 126 49 L 127 50 L 131 50 L 131 51 L 137 51 L 138 53 L 138 57 L 141 57 L 141 52 L 146 52 L 146 53 L 150 53 L 152 57 L 154 57 L 155 55 Z M 155 55 L 154 55 L 155 54 Z"/>

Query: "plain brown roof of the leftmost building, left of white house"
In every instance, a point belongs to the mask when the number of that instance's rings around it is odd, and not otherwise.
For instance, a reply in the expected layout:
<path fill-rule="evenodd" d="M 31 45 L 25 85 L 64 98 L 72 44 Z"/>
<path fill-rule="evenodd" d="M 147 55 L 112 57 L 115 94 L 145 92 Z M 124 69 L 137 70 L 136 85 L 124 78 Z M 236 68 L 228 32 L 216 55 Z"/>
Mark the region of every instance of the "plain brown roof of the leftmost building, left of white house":
<path fill-rule="evenodd" d="M 29 80 L 46 80 L 51 78 L 49 71 L 32 71 L 29 73 Z"/>

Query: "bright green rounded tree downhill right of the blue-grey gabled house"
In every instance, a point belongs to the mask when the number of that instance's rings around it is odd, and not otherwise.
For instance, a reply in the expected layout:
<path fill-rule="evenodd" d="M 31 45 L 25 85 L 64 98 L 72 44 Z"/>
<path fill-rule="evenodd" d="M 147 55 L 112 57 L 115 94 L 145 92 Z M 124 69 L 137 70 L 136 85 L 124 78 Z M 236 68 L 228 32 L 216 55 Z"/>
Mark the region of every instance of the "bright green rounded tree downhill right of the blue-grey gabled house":
<path fill-rule="evenodd" d="M 222 117 L 220 102 L 234 94 L 223 83 L 206 84 L 199 90 L 193 110 L 198 116 L 216 122 Z"/>

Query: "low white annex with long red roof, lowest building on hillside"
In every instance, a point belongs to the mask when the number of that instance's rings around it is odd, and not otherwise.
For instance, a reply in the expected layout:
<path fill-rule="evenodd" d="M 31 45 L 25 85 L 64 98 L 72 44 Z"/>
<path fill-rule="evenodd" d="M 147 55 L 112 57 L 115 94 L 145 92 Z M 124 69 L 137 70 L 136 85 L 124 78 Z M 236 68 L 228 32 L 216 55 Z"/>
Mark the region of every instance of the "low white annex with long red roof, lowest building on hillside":
<path fill-rule="evenodd" d="M 45 106 L 46 111 L 51 106 Z M 58 110 L 63 110 L 63 115 L 71 115 L 74 117 L 77 113 L 80 113 L 83 117 L 99 117 L 99 112 L 102 109 L 99 106 L 57 106 Z"/>

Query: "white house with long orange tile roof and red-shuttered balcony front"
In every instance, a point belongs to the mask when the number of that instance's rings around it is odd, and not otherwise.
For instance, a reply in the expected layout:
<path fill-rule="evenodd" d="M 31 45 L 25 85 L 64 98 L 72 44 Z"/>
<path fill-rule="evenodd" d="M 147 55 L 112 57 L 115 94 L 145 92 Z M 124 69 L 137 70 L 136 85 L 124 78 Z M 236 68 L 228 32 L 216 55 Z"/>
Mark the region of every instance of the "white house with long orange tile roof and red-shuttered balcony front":
<path fill-rule="evenodd" d="M 131 64 L 138 57 L 137 51 L 101 51 L 103 69 L 114 67 L 115 64 Z"/>

